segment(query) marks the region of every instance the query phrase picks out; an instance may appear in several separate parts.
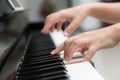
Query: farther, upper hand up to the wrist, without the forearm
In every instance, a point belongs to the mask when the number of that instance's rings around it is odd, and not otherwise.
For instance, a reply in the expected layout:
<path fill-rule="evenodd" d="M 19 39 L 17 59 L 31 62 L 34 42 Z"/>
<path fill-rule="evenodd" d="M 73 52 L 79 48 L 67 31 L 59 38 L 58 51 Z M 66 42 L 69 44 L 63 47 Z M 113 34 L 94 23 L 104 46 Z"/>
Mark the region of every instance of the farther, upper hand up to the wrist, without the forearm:
<path fill-rule="evenodd" d="M 48 31 L 54 31 L 54 25 L 57 24 L 57 30 L 61 29 L 64 21 L 69 21 L 69 26 L 65 29 L 64 35 L 70 36 L 70 34 L 84 21 L 89 15 L 89 5 L 80 5 L 69 9 L 64 9 L 49 15 L 46 18 L 45 26 L 42 29 L 42 33 L 47 34 Z"/>

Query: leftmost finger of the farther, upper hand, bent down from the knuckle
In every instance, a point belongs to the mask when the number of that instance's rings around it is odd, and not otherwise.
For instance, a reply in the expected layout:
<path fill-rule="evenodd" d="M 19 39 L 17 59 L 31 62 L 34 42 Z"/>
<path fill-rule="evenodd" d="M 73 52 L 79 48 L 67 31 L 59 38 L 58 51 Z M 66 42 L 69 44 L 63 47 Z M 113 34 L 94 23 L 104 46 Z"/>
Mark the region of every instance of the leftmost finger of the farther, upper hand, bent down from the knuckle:
<path fill-rule="evenodd" d="M 68 15 L 66 10 L 61 10 L 59 12 L 53 13 L 46 18 L 45 26 L 41 30 L 41 32 L 47 34 L 51 26 L 53 26 L 59 21 L 69 20 L 69 19 L 70 19 L 70 15 Z"/>

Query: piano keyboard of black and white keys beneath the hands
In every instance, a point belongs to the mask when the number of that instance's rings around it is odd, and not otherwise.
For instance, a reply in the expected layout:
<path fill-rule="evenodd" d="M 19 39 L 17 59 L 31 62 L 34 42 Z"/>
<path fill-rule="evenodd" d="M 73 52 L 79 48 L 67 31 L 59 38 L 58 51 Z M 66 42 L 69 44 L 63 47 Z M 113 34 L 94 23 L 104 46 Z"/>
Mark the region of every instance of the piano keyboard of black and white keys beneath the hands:
<path fill-rule="evenodd" d="M 77 59 L 73 61 L 75 63 L 67 64 L 60 55 L 51 55 L 55 46 L 62 42 L 53 43 L 53 35 L 39 31 L 30 34 L 15 80 L 104 80 L 89 62 L 80 63 Z"/>

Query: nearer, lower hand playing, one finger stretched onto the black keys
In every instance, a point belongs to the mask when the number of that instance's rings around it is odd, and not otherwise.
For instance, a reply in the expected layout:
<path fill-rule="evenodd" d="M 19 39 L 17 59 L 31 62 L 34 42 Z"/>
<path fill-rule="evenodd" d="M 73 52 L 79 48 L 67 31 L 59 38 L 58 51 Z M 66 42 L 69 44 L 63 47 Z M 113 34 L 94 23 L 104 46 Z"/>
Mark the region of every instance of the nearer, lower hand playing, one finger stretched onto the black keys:
<path fill-rule="evenodd" d="M 90 61 L 100 49 L 114 47 L 119 43 L 117 31 L 113 27 L 81 33 L 67 39 L 63 44 L 51 52 L 57 54 L 64 50 L 64 58 L 69 61 L 75 52 L 87 52 L 83 61 Z"/>

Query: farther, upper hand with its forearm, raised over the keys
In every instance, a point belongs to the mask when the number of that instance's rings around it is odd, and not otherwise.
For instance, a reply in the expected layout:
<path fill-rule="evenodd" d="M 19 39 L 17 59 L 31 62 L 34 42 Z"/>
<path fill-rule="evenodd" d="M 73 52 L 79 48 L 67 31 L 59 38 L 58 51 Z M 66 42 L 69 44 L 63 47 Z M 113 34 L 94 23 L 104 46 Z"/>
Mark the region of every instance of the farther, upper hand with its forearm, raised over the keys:
<path fill-rule="evenodd" d="M 57 24 L 57 30 L 61 29 L 64 21 L 69 21 L 70 25 L 65 29 L 64 35 L 70 36 L 72 32 L 85 20 L 87 16 L 95 17 L 101 21 L 109 23 L 120 22 L 120 3 L 89 3 L 76 7 L 64 9 L 49 15 L 45 20 L 45 26 L 42 33 L 54 31 L 54 25 Z"/>

